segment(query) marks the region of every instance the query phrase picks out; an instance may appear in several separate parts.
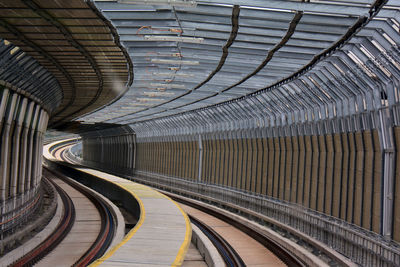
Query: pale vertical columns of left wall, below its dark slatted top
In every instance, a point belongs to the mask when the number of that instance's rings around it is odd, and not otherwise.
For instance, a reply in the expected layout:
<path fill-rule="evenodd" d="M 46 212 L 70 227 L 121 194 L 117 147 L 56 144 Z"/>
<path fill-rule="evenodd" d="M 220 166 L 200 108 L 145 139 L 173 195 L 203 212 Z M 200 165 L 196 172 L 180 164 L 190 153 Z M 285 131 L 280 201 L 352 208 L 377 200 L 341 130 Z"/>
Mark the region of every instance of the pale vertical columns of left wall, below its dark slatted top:
<path fill-rule="evenodd" d="M 0 84 L 2 235 L 37 207 L 43 138 L 49 119 L 40 105 L 11 88 Z"/>

